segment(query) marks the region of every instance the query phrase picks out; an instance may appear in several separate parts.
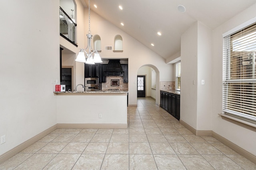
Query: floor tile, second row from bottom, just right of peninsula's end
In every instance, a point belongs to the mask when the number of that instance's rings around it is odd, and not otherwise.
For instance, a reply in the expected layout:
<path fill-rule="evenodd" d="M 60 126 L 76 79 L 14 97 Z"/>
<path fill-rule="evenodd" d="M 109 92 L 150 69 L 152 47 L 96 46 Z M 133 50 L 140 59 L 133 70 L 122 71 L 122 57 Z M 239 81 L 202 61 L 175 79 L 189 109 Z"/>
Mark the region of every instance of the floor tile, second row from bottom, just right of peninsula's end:
<path fill-rule="evenodd" d="M 152 154 L 149 143 L 130 143 L 129 154 Z"/>

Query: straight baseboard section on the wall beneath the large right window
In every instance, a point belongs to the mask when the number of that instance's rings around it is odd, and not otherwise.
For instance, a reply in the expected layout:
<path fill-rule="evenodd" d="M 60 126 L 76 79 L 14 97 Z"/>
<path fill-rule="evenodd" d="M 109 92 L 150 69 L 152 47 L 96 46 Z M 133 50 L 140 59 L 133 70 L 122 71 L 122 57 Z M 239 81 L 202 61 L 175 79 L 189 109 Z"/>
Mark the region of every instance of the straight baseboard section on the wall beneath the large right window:
<path fill-rule="evenodd" d="M 254 154 L 248 152 L 247 150 L 244 150 L 240 146 L 234 144 L 230 140 L 220 136 L 219 134 L 217 134 L 215 132 L 212 132 L 212 137 L 216 138 L 217 140 L 219 140 L 220 142 L 222 142 L 226 146 L 228 146 L 231 149 L 233 149 L 234 151 L 236 151 L 238 154 L 244 156 L 246 159 L 248 159 L 248 160 L 252 161 L 254 164 L 256 164 L 256 156 Z"/>

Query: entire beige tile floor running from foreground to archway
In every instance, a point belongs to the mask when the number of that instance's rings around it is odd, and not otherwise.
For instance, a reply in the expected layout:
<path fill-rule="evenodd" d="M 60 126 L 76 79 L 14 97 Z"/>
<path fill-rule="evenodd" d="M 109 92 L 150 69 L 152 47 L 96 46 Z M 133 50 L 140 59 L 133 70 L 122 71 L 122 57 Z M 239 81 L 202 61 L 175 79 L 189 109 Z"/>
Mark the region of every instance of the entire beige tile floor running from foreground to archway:
<path fill-rule="evenodd" d="M 255 170 L 211 136 L 195 136 L 151 98 L 128 107 L 128 129 L 56 129 L 0 170 Z"/>

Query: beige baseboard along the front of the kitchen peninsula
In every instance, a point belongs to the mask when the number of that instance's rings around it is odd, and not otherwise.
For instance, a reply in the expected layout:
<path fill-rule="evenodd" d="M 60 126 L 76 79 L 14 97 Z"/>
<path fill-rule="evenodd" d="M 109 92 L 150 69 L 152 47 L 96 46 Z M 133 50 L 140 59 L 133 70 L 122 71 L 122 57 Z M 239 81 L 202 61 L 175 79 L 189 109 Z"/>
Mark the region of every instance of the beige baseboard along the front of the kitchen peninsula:
<path fill-rule="evenodd" d="M 57 124 L 57 128 L 100 128 L 100 129 L 126 129 L 127 124 Z"/>

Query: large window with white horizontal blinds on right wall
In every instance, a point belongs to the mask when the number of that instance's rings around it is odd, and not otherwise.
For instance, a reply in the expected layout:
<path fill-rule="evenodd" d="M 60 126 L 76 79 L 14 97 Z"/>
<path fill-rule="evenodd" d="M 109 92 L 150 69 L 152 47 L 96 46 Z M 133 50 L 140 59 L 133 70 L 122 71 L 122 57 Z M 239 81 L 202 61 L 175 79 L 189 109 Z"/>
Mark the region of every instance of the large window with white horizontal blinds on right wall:
<path fill-rule="evenodd" d="M 222 107 L 256 121 L 256 23 L 224 37 Z"/>

